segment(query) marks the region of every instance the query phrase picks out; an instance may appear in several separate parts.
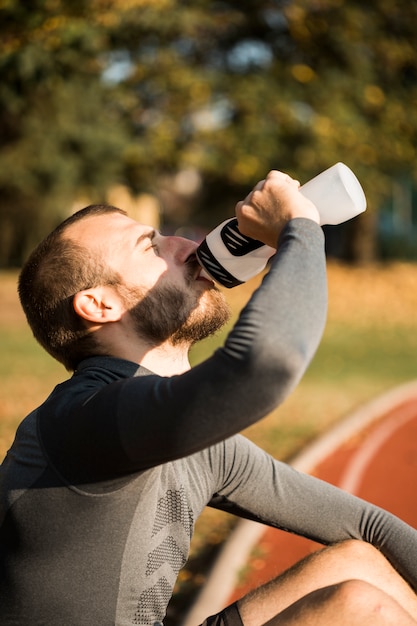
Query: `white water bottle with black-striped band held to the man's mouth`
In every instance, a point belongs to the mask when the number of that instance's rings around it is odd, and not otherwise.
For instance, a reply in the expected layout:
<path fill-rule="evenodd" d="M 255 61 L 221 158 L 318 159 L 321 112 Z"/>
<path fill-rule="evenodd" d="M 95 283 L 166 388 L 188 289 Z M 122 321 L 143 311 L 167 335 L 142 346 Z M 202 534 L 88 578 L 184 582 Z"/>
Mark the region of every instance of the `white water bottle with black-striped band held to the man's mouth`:
<path fill-rule="evenodd" d="M 341 224 L 366 209 L 363 189 L 344 163 L 336 163 L 321 172 L 302 185 L 300 192 L 316 205 L 321 225 Z M 275 248 L 242 235 L 236 218 L 219 224 L 196 251 L 210 278 L 228 288 L 259 274 L 275 253 Z"/>

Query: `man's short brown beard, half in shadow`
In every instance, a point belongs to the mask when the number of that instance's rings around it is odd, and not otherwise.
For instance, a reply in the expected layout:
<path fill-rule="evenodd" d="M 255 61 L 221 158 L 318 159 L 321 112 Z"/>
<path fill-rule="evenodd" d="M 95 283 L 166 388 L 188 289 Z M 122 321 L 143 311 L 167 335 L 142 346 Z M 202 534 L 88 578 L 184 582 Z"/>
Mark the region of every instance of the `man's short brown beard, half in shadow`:
<path fill-rule="evenodd" d="M 230 319 L 223 294 L 215 287 L 199 297 L 171 285 L 157 285 L 145 296 L 128 289 L 129 313 L 136 331 L 152 345 L 193 345 L 216 333 Z"/>

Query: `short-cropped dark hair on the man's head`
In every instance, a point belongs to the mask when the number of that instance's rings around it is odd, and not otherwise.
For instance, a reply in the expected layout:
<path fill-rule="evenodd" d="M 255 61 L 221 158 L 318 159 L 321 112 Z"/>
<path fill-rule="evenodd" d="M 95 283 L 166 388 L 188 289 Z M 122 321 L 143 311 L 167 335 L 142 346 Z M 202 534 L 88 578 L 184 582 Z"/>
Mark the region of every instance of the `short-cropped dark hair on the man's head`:
<path fill-rule="evenodd" d="M 63 237 L 68 226 L 86 217 L 121 213 L 108 204 L 92 204 L 61 222 L 33 250 L 18 282 L 21 305 L 35 339 L 67 370 L 101 348 L 84 320 L 74 310 L 74 296 L 83 289 L 117 285 L 121 277 L 99 252 Z"/>

